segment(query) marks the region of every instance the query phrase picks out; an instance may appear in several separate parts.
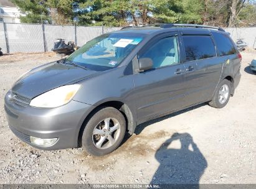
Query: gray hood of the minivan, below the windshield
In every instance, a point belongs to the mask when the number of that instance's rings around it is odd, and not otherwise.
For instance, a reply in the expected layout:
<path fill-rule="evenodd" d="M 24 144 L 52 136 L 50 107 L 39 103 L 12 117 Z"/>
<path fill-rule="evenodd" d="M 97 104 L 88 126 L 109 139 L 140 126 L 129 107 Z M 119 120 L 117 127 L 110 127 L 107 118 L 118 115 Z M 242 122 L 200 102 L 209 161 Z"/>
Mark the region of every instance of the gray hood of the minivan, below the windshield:
<path fill-rule="evenodd" d="M 14 83 L 11 90 L 32 99 L 59 86 L 77 83 L 95 73 L 97 71 L 85 70 L 75 65 L 48 63 L 27 72 Z"/>

